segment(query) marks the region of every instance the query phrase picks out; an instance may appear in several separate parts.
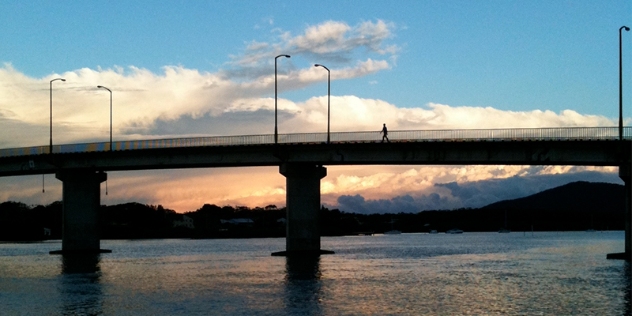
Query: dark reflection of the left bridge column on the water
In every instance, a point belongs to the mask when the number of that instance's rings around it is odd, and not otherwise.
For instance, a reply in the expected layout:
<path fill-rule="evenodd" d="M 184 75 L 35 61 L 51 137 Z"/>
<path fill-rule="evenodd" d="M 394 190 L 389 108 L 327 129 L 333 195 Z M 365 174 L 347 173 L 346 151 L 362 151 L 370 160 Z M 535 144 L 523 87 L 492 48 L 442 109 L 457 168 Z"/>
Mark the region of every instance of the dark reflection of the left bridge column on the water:
<path fill-rule="evenodd" d="M 101 255 L 63 255 L 59 293 L 62 315 L 103 314 Z"/>

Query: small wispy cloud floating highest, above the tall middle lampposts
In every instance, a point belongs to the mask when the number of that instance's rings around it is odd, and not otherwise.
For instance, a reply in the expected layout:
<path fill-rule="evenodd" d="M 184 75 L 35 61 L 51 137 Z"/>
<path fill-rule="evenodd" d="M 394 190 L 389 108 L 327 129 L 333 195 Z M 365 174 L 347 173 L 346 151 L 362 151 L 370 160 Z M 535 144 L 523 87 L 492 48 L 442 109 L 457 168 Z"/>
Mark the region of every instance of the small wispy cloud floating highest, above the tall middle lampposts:
<path fill-rule="evenodd" d="M 274 73 L 275 57 L 281 54 L 292 56 L 286 62 L 291 63 L 296 57 L 300 57 L 309 61 L 310 66 L 318 61 L 344 67 L 355 61 L 365 60 L 354 71 L 360 75 L 371 73 L 370 69 L 365 68 L 375 69 L 377 66 L 379 69 L 386 69 L 389 67 L 388 62 L 375 61 L 372 56 L 392 58 L 399 51 L 397 45 L 387 43 L 393 36 L 394 28 L 393 23 L 377 20 L 365 21 L 356 26 L 340 21 L 326 21 L 307 26 L 299 35 L 279 30 L 280 35 L 276 42 L 252 41 L 247 44 L 243 53 L 231 56 L 221 75 L 228 80 L 269 80 L 270 74 Z M 296 71 L 299 71 L 296 77 L 304 75 L 300 73 L 300 68 L 292 68 L 289 75 L 293 76 L 292 73 Z M 278 72 L 288 73 L 286 67 L 281 67 Z M 342 72 L 336 76 L 332 74 L 332 78 L 336 79 L 349 77 Z"/>

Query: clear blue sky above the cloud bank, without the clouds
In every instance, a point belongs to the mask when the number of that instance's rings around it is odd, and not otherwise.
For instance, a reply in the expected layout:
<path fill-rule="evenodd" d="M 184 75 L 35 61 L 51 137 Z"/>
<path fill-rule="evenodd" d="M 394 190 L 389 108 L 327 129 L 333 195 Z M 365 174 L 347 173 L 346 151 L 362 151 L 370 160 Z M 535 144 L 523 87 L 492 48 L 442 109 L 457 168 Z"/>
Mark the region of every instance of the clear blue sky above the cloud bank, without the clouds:
<path fill-rule="evenodd" d="M 402 107 L 437 102 L 610 117 L 617 115 L 618 28 L 631 17 L 630 1 L 3 1 L 0 60 L 34 77 L 130 65 L 216 72 L 252 41 L 275 42 L 328 20 L 379 19 L 394 25 L 392 68 L 336 82 L 336 93 Z M 624 35 L 630 52 L 632 33 Z M 296 67 L 336 66 L 297 58 Z"/>

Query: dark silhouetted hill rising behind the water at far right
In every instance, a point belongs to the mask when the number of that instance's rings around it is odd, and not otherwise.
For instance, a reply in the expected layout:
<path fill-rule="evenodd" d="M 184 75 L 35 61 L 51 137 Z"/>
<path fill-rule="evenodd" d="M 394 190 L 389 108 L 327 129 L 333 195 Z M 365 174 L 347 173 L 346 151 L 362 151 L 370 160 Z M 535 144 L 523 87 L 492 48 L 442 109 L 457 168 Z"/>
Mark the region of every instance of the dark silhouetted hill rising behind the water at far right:
<path fill-rule="evenodd" d="M 476 209 L 423 211 L 409 225 L 423 225 L 424 231 L 498 231 L 506 219 L 506 228 L 512 231 L 622 230 L 624 205 L 622 185 L 573 182 Z"/>

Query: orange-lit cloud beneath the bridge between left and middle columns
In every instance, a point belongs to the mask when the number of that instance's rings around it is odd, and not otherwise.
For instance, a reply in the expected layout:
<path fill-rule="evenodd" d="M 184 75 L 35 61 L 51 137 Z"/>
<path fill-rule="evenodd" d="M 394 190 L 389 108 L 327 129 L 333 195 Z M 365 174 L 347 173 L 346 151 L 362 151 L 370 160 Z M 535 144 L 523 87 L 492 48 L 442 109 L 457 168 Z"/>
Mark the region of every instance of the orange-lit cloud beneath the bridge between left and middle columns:
<path fill-rule="evenodd" d="M 251 167 L 235 171 L 216 168 L 116 172 L 110 176 L 110 195 L 102 197 L 102 202 L 163 204 L 180 212 L 193 211 L 206 203 L 285 204 L 285 178 L 278 173 L 278 168 Z"/>

